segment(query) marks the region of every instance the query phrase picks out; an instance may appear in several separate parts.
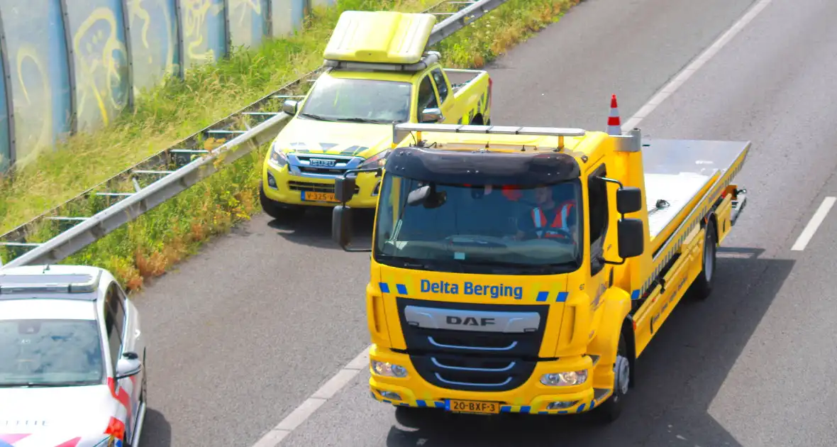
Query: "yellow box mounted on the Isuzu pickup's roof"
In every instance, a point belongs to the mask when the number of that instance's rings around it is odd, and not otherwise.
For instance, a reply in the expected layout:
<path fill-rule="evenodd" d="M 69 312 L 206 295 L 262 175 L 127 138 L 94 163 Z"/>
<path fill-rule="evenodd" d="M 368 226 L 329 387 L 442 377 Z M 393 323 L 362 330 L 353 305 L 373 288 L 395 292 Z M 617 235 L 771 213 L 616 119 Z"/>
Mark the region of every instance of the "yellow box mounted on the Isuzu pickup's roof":
<path fill-rule="evenodd" d="M 326 45 L 326 60 L 417 64 L 436 23 L 433 14 L 346 11 Z"/>

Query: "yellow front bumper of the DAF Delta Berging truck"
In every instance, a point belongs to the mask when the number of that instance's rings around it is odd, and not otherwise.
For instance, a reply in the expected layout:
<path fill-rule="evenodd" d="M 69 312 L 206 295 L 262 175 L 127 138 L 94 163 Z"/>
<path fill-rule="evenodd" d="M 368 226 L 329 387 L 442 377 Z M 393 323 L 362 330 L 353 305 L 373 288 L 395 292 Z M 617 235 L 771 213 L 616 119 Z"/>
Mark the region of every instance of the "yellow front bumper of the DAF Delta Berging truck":
<path fill-rule="evenodd" d="M 612 394 L 612 389 L 593 388 L 593 362 L 586 356 L 537 362 L 525 383 L 502 392 L 460 391 L 436 387 L 419 375 L 407 354 L 381 349 L 376 345 L 372 345 L 369 359 L 370 362 L 389 362 L 406 368 L 405 378 L 380 376 L 372 372 L 369 379 L 372 398 L 403 407 L 441 408 L 450 411 L 449 399 L 459 399 L 499 403 L 500 413 L 570 414 L 589 411 Z M 588 378 L 578 385 L 550 387 L 540 382 L 543 374 L 584 368 L 588 368 Z M 392 393 L 396 395 L 393 396 Z M 547 408 L 550 403 L 562 403 L 562 406 Z"/>

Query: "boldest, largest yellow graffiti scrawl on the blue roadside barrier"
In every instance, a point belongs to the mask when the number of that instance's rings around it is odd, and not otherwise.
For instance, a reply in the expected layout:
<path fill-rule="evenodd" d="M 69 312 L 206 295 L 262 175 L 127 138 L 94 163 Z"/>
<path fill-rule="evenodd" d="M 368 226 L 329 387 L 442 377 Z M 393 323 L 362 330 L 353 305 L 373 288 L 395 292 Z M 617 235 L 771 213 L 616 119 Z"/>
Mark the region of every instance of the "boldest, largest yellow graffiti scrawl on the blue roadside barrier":
<path fill-rule="evenodd" d="M 94 28 L 97 23 L 104 23 L 109 33 L 105 35 L 102 28 Z M 117 103 L 116 95 L 113 95 L 116 92 L 114 87 L 119 86 L 122 82 L 117 55 L 121 54 L 123 60 L 127 60 L 125 45 L 117 39 L 116 27 L 116 17 L 110 8 L 96 8 L 81 23 L 73 36 L 77 73 L 75 89 L 79 98 L 76 109 L 77 115 L 84 116 L 85 105 L 87 105 L 89 96 L 92 96 L 95 105 L 99 108 L 105 126 L 110 124 L 105 100 L 110 100 L 110 105 L 116 110 L 121 110 L 123 105 Z M 85 40 L 84 46 L 82 46 L 82 40 Z M 98 54 L 96 54 L 97 50 L 99 51 Z M 97 78 L 99 80 L 103 79 L 104 85 L 97 85 Z"/>

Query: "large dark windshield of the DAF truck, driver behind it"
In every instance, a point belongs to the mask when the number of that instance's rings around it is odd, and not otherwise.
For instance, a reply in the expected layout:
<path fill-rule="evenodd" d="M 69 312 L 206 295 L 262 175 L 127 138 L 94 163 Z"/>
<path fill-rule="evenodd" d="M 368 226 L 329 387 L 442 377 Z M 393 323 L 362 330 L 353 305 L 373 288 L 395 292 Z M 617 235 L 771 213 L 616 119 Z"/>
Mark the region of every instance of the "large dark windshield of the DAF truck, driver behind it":
<path fill-rule="evenodd" d="M 374 257 L 384 265 L 482 274 L 578 269 L 578 179 L 538 188 L 425 183 L 387 173 Z"/>

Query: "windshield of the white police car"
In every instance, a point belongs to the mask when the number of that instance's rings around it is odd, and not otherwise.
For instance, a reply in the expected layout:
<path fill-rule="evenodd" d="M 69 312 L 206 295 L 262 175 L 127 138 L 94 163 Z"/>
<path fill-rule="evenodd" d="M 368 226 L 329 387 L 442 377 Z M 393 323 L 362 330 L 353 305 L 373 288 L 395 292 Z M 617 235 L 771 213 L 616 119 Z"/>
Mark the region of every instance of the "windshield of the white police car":
<path fill-rule="evenodd" d="M 102 383 L 101 344 L 96 321 L 0 320 L 0 387 Z"/>

